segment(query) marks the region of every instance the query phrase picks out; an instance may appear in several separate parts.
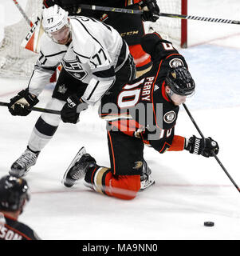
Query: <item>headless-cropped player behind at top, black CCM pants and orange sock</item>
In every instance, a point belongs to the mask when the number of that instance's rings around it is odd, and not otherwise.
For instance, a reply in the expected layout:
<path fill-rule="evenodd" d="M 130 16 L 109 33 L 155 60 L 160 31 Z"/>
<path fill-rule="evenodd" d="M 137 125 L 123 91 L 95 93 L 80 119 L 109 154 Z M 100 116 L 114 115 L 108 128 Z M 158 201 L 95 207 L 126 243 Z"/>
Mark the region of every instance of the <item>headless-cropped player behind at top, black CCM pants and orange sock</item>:
<path fill-rule="evenodd" d="M 143 22 L 155 22 L 159 18 L 159 6 L 156 0 L 45 0 L 44 4 L 46 7 L 57 4 L 68 10 L 69 14 L 94 17 L 114 27 L 128 43 L 136 64 L 136 76 L 150 69 L 151 58 L 140 45 L 140 38 L 145 34 Z M 142 16 L 86 9 L 81 9 L 79 13 L 80 4 L 147 10 Z"/>

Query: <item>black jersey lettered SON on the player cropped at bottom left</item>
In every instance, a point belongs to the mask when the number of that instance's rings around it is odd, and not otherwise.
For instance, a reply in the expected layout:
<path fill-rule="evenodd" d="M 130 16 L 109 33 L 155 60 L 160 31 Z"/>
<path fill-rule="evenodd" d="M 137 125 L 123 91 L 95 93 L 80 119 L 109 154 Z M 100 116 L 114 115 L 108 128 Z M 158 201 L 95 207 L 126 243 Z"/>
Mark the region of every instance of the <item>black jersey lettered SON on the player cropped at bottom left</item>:
<path fill-rule="evenodd" d="M 26 224 L 4 214 L 5 225 L 0 226 L 0 240 L 40 240 Z"/>

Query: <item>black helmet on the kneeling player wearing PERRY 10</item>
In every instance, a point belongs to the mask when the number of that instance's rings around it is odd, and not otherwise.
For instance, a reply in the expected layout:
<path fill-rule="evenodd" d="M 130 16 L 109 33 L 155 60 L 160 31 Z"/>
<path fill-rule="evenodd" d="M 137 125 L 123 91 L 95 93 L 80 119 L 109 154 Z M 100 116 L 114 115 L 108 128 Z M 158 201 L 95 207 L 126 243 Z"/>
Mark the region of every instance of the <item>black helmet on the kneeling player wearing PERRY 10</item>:
<path fill-rule="evenodd" d="M 171 68 L 167 72 L 166 82 L 175 94 L 188 96 L 195 91 L 195 82 L 185 66 Z"/>

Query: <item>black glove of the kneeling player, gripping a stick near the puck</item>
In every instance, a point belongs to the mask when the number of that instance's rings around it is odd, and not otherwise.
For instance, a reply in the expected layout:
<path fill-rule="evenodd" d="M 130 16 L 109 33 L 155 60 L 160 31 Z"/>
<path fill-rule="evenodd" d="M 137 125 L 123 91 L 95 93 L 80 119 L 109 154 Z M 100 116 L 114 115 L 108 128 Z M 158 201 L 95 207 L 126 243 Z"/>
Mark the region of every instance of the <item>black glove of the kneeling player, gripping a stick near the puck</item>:
<path fill-rule="evenodd" d="M 218 154 L 219 146 L 218 142 L 215 142 L 210 137 L 196 138 L 196 136 L 193 135 L 189 138 L 185 150 L 188 150 L 191 154 L 202 154 L 203 157 L 209 158 L 214 154 Z"/>

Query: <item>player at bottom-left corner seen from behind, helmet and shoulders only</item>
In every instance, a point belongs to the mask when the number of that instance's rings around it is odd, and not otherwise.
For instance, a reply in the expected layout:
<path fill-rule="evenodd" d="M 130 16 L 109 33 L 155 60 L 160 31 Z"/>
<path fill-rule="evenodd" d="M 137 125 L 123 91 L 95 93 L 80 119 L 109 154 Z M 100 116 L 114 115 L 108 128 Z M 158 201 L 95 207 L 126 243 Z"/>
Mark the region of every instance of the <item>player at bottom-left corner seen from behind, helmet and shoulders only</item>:
<path fill-rule="evenodd" d="M 0 240 L 39 240 L 26 224 L 18 222 L 26 202 L 30 200 L 25 179 L 10 175 L 0 179 Z"/>

